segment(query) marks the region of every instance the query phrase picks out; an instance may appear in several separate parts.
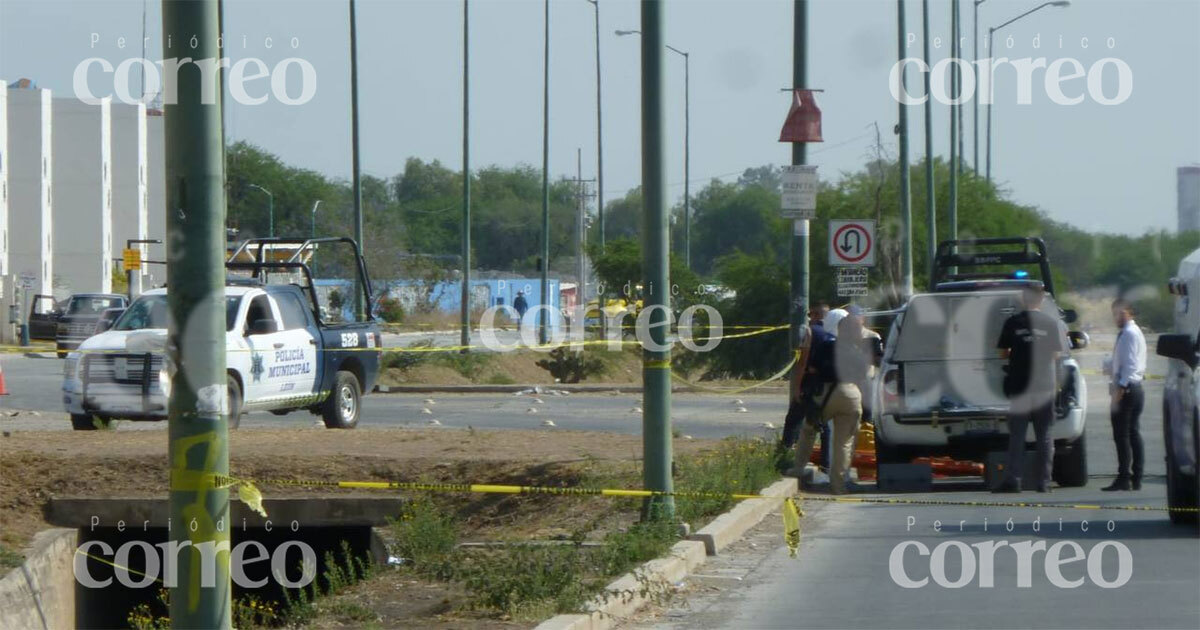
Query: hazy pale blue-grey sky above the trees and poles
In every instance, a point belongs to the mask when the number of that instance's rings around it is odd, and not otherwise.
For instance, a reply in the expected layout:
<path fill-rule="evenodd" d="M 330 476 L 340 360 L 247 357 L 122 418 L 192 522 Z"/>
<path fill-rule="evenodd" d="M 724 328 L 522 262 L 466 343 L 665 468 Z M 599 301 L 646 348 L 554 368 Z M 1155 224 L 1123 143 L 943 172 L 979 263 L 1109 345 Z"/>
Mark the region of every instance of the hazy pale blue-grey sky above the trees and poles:
<path fill-rule="evenodd" d="M 637 4 L 600 0 L 604 64 L 605 194 L 613 199 L 640 179 Z M 979 7 L 980 56 L 986 28 L 1036 0 L 988 0 Z M 0 0 L 0 78 L 28 77 L 56 95 L 71 94 L 84 59 L 114 65 L 140 56 L 142 13 L 148 7 L 150 48 L 162 55 L 158 4 L 140 0 Z M 949 54 L 948 0 L 931 2 L 937 59 Z M 965 55 L 971 55 L 971 0 L 962 1 Z M 810 150 L 826 179 L 857 169 L 878 124 L 895 152 L 898 106 L 888 90 L 896 59 L 896 4 L 892 0 L 811 0 L 811 85 L 826 91 L 823 145 Z M 390 176 L 410 156 L 461 164 L 462 4 L 455 0 L 360 0 L 359 77 L 364 170 Z M 595 173 L 595 42 L 593 7 L 584 0 L 551 2 L 551 173 L 575 174 L 583 149 L 586 178 Z M 791 79 L 792 2 L 780 0 L 676 0 L 666 2 L 666 41 L 691 53 L 691 180 L 744 168 L 786 163 L 776 142 L 788 107 L 780 92 Z M 907 26 L 920 55 L 920 2 L 907 2 Z M 341 0 L 227 0 L 227 55 L 257 56 L 274 66 L 287 56 L 308 60 L 317 92 L 304 106 L 269 101 L 232 104 L 230 139 L 245 139 L 283 160 L 334 176 L 349 176 L 349 58 L 347 4 Z M 100 42 L 92 46 L 92 34 Z M 535 0 L 472 2 L 472 156 L 475 167 L 541 163 L 542 4 Z M 1031 104 L 1016 104 L 1012 67 L 998 71 L 994 106 L 992 173 L 1012 197 L 1049 216 L 1088 229 L 1141 233 L 1174 228 L 1175 168 L 1200 163 L 1200 0 L 1075 0 L 1048 7 L 998 31 L 1004 56 L 1078 59 L 1084 68 L 1103 58 L 1128 64 L 1133 91 L 1104 106 L 1086 97 L 1052 103 L 1033 74 Z M 1012 49 L 1000 49 L 1013 36 Z M 1033 48 L 1040 35 L 1040 48 Z M 118 38 L 126 48 L 118 48 Z M 265 47 L 271 37 L 272 48 Z M 299 47 L 289 43 L 296 38 Z M 1062 48 L 1060 46 L 1060 37 Z M 1087 37 L 1087 48 L 1082 38 Z M 1112 48 L 1109 48 L 1111 38 Z M 244 43 L 245 42 L 245 43 Z M 670 54 L 668 181 L 683 193 L 683 59 Z M 295 78 L 295 74 L 293 76 Z M 92 72 L 97 94 L 110 78 Z M 1064 85 L 1085 91 L 1085 79 Z M 918 82 L 910 78 L 911 90 Z M 1116 72 L 1104 72 L 1106 97 Z M 964 107 L 967 158 L 973 155 L 971 107 Z M 984 108 L 979 112 L 984 124 Z M 924 155 L 923 113 L 910 108 L 912 158 Z M 949 144 L 949 107 L 934 107 L 934 143 Z M 983 133 L 980 132 L 980 142 Z M 980 161 L 983 152 L 980 146 Z M 980 164 L 982 168 L 982 164 Z"/>

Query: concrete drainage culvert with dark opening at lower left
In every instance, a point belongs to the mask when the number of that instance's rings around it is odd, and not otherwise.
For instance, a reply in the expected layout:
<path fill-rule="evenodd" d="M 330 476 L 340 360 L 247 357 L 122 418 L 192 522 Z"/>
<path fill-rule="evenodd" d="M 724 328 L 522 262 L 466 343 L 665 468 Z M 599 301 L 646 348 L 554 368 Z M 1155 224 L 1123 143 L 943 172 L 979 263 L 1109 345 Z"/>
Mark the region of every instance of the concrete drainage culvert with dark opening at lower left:
<path fill-rule="evenodd" d="M 230 502 L 232 545 L 246 545 L 244 574 L 247 583 L 259 588 L 234 587 L 234 596 L 253 594 L 263 600 L 282 601 L 282 587 L 270 577 L 271 560 L 280 554 L 287 575 L 300 575 L 301 551 L 296 541 L 308 545 L 317 557 L 317 575 L 324 570 L 324 557 L 342 556 L 343 541 L 356 557 L 370 554 L 383 564 L 386 550 L 374 527 L 386 524 L 389 516 L 401 512 L 398 498 L 324 497 L 281 498 L 263 502 L 269 522 L 240 502 Z M 138 604 L 158 599 L 160 584 L 140 574 L 162 577 L 162 554 L 167 542 L 168 505 L 166 499 L 52 499 L 46 520 L 59 529 L 38 533 L 20 568 L 0 578 L 0 628 L 124 628 L 128 612 Z M 172 527 L 176 527 L 172 524 Z M 293 527 L 295 529 L 293 530 Z M 128 545 L 133 542 L 133 545 Z M 116 580 L 116 569 L 91 557 L 79 557 L 80 569 L 106 586 L 88 588 L 76 580 L 77 550 L 86 545 L 89 556 L 116 562 L 118 550 L 130 550 L 122 564 L 131 571 L 126 583 Z M 156 553 L 146 559 L 146 551 Z M 155 566 L 157 565 L 157 566 Z M 112 580 L 109 580 L 112 578 Z"/>

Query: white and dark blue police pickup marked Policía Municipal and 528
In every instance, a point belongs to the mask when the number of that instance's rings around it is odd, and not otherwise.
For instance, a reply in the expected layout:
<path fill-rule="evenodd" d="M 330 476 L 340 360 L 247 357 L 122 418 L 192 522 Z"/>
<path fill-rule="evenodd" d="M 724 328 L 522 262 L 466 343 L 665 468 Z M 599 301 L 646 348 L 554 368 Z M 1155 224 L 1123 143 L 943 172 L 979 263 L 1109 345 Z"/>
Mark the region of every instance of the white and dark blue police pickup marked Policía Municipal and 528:
<path fill-rule="evenodd" d="M 236 427 L 246 412 L 298 409 L 320 414 L 330 428 L 356 426 L 361 397 L 374 388 L 379 372 L 380 335 L 370 314 L 362 322 L 322 320 L 302 263 L 227 266 L 256 276 L 224 289 L 229 426 Z M 307 282 L 269 284 L 260 277 L 265 271 L 287 271 L 293 278 L 300 272 Z M 361 265 L 360 271 L 365 280 Z M 368 281 L 365 286 L 370 296 Z M 149 290 L 109 330 L 67 356 L 62 402 L 76 430 L 116 419 L 167 418 L 175 372 L 167 360 L 167 289 Z"/>

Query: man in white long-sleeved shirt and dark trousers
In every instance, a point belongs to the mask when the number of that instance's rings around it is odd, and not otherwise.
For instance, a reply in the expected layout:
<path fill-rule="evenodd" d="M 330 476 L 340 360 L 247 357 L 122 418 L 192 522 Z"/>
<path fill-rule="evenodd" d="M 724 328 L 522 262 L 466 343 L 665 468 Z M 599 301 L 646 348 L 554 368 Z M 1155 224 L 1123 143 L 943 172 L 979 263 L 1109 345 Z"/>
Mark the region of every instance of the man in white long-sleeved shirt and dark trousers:
<path fill-rule="evenodd" d="M 1112 302 L 1112 322 L 1117 325 L 1117 342 L 1112 356 L 1106 359 L 1105 373 L 1112 376 L 1112 439 L 1117 444 L 1117 478 L 1105 492 L 1141 490 L 1142 464 L 1146 457 L 1141 444 L 1141 408 L 1146 394 L 1141 382 L 1146 378 L 1146 337 L 1133 320 L 1133 305 L 1126 300 Z"/>

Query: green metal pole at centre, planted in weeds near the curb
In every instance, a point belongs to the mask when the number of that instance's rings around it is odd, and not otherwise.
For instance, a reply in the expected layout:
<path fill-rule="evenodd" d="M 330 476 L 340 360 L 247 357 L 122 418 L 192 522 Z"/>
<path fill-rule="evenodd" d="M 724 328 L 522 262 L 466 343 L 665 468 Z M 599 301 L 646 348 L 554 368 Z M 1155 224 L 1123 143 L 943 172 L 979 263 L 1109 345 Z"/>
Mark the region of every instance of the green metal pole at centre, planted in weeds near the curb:
<path fill-rule="evenodd" d="M 642 451 L 647 490 L 673 492 L 671 479 L 671 232 L 667 223 L 665 116 L 662 108 L 662 2 L 642 0 L 642 287 L 648 322 L 642 346 Z M 674 517 L 672 497 L 653 497 L 642 518 Z"/>

